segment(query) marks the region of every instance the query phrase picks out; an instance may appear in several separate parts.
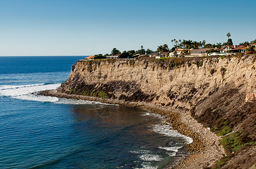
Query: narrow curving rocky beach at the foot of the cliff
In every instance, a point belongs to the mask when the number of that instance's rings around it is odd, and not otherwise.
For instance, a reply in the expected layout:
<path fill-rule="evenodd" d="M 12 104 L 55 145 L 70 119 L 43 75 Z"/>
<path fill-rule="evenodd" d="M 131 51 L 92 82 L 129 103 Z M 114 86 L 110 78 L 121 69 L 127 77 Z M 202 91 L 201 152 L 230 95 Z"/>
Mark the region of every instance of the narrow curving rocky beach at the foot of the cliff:
<path fill-rule="evenodd" d="M 216 136 L 207 128 L 204 128 L 202 124 L 198 123 L 191 117 L 190 113 L 185 110 L 173 109 L 145 102 L 129 102 L 116 99 L 104 99 L 100 97 L 69 95 L 57 90 L 42 91 L 39 95 L 140 107 L 148 109 L 152 113 L 164 116 L 165 122 L 171 125 L 174 130 L 177 130 L 180 134 L 189 136 L 193 139 L 193 143 L 186 146 L 189 155 L 184 159 L 177 161 L 174 166 L 168 168 L 210 167 L 225 155 L 224 148 L 219 143 L 220 137 Z"/>

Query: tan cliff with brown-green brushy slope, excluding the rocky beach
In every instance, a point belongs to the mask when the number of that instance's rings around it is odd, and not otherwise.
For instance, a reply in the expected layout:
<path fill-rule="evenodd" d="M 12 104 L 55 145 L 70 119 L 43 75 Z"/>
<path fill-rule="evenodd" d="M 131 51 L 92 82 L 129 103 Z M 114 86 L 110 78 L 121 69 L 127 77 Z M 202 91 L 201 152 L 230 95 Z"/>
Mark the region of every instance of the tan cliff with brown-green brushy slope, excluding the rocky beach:
<path fill-rule="evenodd" d="M 256 163 L 256 55 L 76 61 L 58 91 L 189 111 L 227 155 L 216 168 Z"/>

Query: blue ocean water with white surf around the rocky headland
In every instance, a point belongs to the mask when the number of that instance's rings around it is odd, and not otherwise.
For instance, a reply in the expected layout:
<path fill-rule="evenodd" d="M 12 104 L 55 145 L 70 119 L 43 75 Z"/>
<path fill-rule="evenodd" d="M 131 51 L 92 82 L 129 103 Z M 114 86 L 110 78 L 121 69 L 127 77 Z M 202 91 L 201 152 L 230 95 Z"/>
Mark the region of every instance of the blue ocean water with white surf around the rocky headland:
<path fill-rule="evenodd" d="M 190 138 L 148 110 L 38 96 L 83 56 L 0 57 L 0 168 L 163 168 Z"/>

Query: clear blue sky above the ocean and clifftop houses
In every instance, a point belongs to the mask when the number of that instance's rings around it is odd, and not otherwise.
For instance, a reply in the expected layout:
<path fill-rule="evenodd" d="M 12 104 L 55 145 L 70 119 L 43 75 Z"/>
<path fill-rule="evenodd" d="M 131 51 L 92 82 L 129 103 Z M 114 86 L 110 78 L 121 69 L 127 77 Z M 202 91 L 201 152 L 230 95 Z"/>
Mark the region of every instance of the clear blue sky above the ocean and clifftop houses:
<path fill-rule="evenodd" d="M 0 56 L 156 50 L 171 39 L 256 39 L 256 1 L 0 0 Z"/>

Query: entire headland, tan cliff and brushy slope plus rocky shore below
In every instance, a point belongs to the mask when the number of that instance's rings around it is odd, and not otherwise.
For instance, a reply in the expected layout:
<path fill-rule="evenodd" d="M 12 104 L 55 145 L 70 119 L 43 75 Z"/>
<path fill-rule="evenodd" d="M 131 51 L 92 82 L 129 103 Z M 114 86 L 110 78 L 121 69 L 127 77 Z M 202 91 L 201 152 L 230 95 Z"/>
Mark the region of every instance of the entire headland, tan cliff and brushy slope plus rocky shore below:
<path fill-rule="evenodd" d="M 139 106 L 189 136 L 173 168 L 255 168 L 256 55 L 76 61 L 42 95 Z"/>

